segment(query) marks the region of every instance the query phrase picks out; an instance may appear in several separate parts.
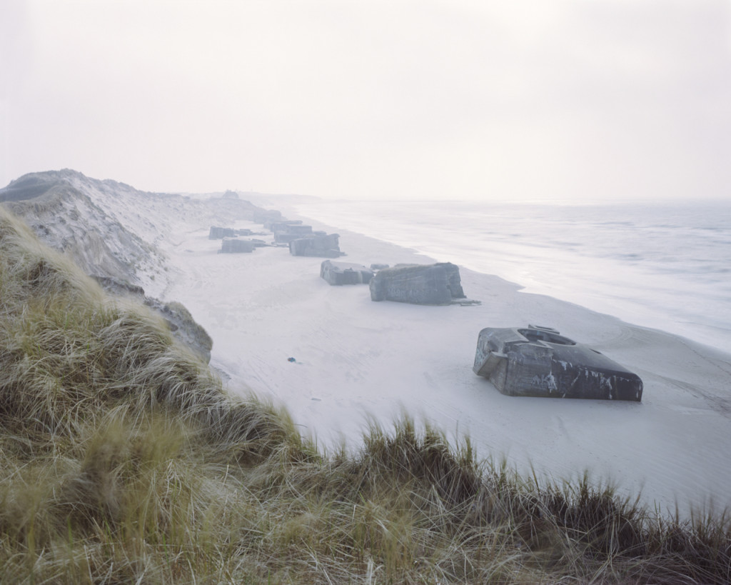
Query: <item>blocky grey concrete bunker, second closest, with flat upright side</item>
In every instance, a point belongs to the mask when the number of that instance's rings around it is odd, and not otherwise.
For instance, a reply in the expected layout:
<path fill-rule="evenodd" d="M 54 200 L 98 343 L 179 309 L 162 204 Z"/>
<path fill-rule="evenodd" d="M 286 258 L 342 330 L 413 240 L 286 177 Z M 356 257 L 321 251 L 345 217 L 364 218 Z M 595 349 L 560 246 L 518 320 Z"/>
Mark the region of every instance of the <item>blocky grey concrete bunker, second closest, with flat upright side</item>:
<path fill-rule="evenodd" d="M 417 305 L 450 305 L 466 298 L 459 267 L 450 262 L 397 264 L 383 268 L 371 279 L 371 301 Z"/>

